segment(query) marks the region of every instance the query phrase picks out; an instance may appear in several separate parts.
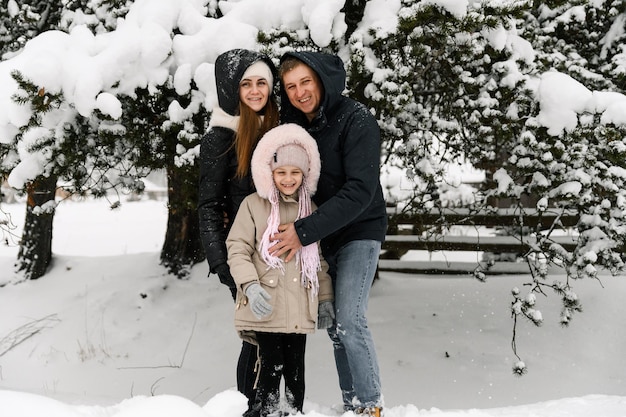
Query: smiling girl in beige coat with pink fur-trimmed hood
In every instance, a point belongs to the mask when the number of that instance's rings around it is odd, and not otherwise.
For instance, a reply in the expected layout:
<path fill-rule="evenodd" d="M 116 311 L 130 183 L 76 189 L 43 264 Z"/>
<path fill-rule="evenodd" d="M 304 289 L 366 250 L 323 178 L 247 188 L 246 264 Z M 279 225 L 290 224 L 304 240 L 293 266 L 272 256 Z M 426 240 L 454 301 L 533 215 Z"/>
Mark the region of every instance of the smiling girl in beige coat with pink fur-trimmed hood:
<path fill-rule="evenodd" d="M 226 240 L 237 285 L 235 327 L 244 335 L 254 331 L 261 363 L 256 400 L 244 417 L 278 412 L 281 377 L 289 411 L 302 412 L 306 334 L 315 331 L 316 321 L 328 328 L 334 318 L 332 283 L 319 245 L 301 248 L 290 262 L 268 251 L 279 224 L 315 209 L 311 195 L 319 173 L 317 145 L 303 128 L 270 130 L 252 156 L 257 192 L 241 203 Z"/>

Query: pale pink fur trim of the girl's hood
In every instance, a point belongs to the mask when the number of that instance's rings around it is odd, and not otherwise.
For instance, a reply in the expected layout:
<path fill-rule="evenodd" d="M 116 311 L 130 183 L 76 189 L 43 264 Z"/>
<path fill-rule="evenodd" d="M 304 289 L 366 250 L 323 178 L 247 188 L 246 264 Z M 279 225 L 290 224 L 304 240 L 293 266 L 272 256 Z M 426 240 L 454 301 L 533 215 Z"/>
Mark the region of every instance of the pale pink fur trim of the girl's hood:
<path fill-rule="evenodd" d="M 320 178 L 320 153 L 317 150 L 317 143 L 311 135 L 302 127 L 288 123 L 277 126 L 268 131 L 254 150 L 250 170 L 257 193 L 268 198 L 274 182 L 270 163 L 274 157 L 274 152 L 281 146 L 296 144 L 306 151 L 309 157 L 309 172 L 305 172 L 306 185 L 310 195 L 317 191 L 317 183 Z"/>

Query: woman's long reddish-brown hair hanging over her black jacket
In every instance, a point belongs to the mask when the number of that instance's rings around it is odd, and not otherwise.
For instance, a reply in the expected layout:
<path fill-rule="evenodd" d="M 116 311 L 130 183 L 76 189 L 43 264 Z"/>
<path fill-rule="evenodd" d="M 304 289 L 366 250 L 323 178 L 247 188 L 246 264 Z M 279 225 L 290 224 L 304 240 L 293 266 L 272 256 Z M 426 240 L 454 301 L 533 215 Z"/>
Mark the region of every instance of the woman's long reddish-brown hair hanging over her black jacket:
<path fill-rule="evenodd" d="M 250 160 L 257 142 L 268 130 L 278 126 L 278 105 L 270 97 L 265 105 L 265 116 L 260 121 L 259 115 L 250 107 L 239 103 L 239 127 L 235 135 L 237 153 L 237 178 L 243 178 L 250 172 Z"/>

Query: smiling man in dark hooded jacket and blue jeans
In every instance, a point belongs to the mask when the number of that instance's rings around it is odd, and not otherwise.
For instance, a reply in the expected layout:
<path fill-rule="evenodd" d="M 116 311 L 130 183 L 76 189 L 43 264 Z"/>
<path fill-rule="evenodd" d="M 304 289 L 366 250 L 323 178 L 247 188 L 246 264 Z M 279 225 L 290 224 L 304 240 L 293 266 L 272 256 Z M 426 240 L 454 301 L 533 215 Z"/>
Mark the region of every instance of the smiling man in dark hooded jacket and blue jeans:
<path fill-rule="evenodd" d="M 272 252 L 287 260 L 321 240 L 335 290 L 333 341 L 344 410 L 380 416 L 378 360 L 367 326 L 367 304 L 387 215 L 380 185 L 380 130 L 365 106 L 342 92 L 341 59 L 317 52 L 281 58 L 281 122 L 298 123 L 315 138 L 322 160 L 318 210 L 281 225 Z"/>

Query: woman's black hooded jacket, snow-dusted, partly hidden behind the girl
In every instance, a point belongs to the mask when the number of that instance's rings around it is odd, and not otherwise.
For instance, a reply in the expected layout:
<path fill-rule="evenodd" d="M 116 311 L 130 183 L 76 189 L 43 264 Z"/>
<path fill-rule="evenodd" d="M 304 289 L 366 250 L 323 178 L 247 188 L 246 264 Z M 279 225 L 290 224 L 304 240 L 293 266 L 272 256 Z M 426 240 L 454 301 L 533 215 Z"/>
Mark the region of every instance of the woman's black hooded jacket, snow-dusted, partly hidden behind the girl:
<path fill-rule="evenodd" d="M 215 80 L 219 107 L 230 116 L 239 113 L 239 82 L 246 69 L 257 61 L 265 62 L 274 76 L 271 59 L 259 52 L 234 49 L 215 61 Z M 241 201 L 254 192 L 252 178 L 236 178 L 237 155 L 232 128 L 211 123 L 200 144 L 200 185 L 198 215 L 200 237 L 211 272 L 226 264 L 226 236 Z"/>

